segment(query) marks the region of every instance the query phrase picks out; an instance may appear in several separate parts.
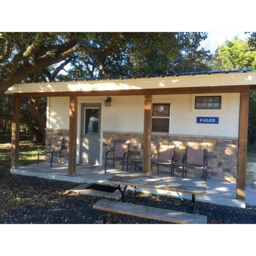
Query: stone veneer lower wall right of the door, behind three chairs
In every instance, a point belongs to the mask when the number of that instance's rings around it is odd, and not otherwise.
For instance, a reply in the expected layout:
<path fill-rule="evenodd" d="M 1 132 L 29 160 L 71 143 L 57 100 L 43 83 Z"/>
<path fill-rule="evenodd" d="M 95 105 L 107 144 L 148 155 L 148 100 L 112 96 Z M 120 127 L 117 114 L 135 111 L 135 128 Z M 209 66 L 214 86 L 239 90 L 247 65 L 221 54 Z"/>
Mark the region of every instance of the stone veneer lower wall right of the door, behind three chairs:
<path fill-rule="evenodd" d="M 134 151 L 132 157 L 142 157 L 143 134 L 136 132 L 103 132 L 103 160 L 108 150 L 113 148 L 116 140 L 130 141 L 130 149 Z M 157 152 L 159 143 L 176 146 L 175 175 L 182 173 L 182 157 L 186 152 L 186 146 L 207 149 L 207 179 L 228 180 L 235 182 L 237 175 L 237 138 L 191 136 L 173 134 L 153 134 L 152 153 Z M 104 161 L 103 161 L 104 163 Z M 121 165 L 122 163 L 119 163 Z M 111 166 L 111 163 L 109 163 Z M 119 166 L 121 168 L 121 166 Z M 162 168 L 162 169 L 161 169 Z M 163 170 L 160 167 L 160 172 Z M 164 170 L 163 170 L 164 171 Z M 156 172 L 154 169 L 153 172 Z M 202 177 L 202 172 L 190 169 L 187 177 Z"/>

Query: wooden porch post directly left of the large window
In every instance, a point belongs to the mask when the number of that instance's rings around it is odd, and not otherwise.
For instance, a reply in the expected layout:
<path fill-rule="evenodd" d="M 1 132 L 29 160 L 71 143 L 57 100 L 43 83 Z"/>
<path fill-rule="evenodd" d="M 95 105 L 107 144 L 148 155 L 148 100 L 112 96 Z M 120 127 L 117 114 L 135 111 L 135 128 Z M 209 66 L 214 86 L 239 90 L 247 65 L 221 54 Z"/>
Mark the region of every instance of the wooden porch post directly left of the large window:
<path fill-rule="evenodd" d="M 143 130 L 143 173 L 151 173 L 152 95 L 145 95 Z"/>

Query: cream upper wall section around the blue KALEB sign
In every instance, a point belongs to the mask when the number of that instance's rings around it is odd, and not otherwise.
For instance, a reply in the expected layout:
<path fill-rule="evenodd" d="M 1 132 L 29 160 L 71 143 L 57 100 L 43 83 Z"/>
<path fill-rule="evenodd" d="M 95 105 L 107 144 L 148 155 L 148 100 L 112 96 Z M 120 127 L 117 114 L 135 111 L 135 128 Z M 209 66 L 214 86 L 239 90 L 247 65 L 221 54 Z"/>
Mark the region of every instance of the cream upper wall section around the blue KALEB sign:
<path fill-rule="evenodd" d="M 195 109 L 195 96 L 198 95 L 173 95 L 170 99 L 171 133 L 238 137 L 239 93 L 218 93 L 221 95 L 221 109 Z M 156 97 L 154 99 L 156 101 Z M 196 124 L 196 116 L 219 117 L 219 124 Z"/>

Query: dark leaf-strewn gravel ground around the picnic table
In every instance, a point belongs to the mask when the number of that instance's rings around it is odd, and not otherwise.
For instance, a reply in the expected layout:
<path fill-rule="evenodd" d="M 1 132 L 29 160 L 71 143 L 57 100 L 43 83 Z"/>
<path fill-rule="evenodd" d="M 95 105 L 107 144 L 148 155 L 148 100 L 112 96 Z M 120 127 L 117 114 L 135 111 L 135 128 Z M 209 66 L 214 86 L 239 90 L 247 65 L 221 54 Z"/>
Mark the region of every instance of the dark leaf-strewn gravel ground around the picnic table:
<path fill-rule="evenodd" d="M 92 209 L 100 198 L 79 195 L 69 189 L 76 183 L 39 179 L 0 172 L 0 223 L 164 223 Z M 129 193 L 127 194 L 129 196 Z M 132 204 L 189 212 L 189 200 L 137 193 L 127 197 Z M 240 209 L 196 202 L 196 213 L 208 223 L 256 223 L 256 207 Z"/>

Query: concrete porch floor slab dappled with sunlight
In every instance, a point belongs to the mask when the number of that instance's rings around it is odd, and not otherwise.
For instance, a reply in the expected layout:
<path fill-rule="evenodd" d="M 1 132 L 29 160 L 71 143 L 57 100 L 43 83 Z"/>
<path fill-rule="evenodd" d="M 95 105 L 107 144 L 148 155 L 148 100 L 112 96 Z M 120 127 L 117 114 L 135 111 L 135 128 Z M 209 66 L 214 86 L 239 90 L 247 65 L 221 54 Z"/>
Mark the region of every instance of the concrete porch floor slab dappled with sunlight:
<path fill-rule="evenodd" d="M 51 166 L 49 163 L 40 163 L 39 165 L 31 164 L 22 166 L 17 170 L 11 170 L 11 173 L 40 177 L 44 179 L 63 180 L 86 184 L 108 184 L 107 180 L 120 170 L 109 169 L 104 173 L 102 167 L 77 166 L 76 175 L 70 177 L 67 175 L 67 165 Z M 154 174 L 154 173 L 153 173 Z M 161 173 L 161 176 L 164 176 Z M 176 192 L 163 191 L 160 189 L 137 189 L 144 193 L 152 193 L 156 195 L 179 197 Z M 182 198 L 191 200 L 191 195 L 180 193 Z M 246 204 L 244 201 L 236 199 L 236 183 L 221 182 L 215 180 L 207 180 L 207 196 L 196 196 L 196 200 L 208 202 L 212 204 L 227 205 L 231 207 L 245 207 L 246 205 L 256 205 L 256 189 L 246 188 Z"/>

